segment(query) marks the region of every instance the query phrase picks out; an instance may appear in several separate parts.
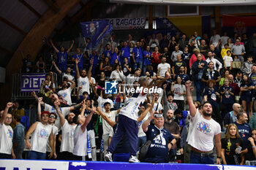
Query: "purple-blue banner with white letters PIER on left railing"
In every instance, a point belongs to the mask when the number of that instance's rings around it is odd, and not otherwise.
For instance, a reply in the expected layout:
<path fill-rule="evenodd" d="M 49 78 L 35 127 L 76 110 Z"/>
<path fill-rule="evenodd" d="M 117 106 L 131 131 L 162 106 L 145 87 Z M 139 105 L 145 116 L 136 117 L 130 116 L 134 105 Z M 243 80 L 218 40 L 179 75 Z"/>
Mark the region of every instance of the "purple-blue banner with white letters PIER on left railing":
<path fill-rule="evenodd" d="M 43 81 L 45 81 L 45 73 L 22 74 L 20 92 L 37 92 Z"/>

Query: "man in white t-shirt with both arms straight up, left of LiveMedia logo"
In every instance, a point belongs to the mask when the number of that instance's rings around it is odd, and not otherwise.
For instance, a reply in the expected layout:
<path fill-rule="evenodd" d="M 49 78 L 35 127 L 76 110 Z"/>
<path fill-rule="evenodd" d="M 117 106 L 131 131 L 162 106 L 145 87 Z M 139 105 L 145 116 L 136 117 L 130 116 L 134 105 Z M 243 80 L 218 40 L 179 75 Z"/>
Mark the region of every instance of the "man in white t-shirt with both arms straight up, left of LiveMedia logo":
<path fill-rule="evenodd" d="M 89 68 L 88 74 L 86 74 L 86 69 L 83 69 L 81 74 L 79 73 L 78 70 L 78 60 L 75 60 L 75 69 L 77 72 L 77 80 L 78 80 L 78 87 L 82 86 L 82 89 L 80 90 L 80 96 L 83 95 L 84 91 L 87 91 L 90 95 L 90 82 L 89 80 L 91 80 L 91 69 L 93 66 L 93 60 L 90 60 L 91 66 Z"/>

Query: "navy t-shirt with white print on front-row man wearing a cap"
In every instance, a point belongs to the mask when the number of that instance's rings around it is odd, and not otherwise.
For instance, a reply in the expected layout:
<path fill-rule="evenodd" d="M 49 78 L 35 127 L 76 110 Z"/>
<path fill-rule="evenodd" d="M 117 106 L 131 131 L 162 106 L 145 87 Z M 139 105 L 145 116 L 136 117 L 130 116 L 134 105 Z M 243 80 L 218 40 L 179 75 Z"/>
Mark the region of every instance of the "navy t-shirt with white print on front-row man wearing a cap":
<path fill-rule="evenodd" d="M 151 163 L 167 163 L 168 162 L 168 143 L 174 138 L 165 128 L 159 130 L 155 125 L 148 125 L 146 131 L 147 140 L 152 139 L 157 132 L 160 131 L 148 147 L 148 153 L 145 161 Z"/>

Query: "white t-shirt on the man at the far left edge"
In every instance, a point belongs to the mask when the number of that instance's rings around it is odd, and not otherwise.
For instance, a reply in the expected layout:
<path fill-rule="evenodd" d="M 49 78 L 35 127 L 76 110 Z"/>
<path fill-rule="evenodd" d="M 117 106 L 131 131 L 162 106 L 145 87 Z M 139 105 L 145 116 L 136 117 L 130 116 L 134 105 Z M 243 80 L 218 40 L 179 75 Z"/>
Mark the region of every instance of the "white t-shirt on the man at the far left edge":
<path fill-rule="evenodd" d="M 12 127 L 0 123 L 0 153 L 12 154 L 12 137 Z"/>

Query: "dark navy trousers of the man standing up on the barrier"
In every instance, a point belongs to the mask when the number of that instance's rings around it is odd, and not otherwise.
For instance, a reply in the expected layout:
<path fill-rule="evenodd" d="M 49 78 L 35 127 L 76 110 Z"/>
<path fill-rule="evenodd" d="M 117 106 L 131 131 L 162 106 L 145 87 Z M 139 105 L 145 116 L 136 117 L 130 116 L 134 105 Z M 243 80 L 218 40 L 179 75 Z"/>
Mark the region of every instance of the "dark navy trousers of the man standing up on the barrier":
<path fill-rule="evenodd" d="M 136 155 L 137 142 L 138 142 L 138 122 L 130 119 L 127 116 L 118 116 L 118 125 L 116 127 L 116 133 L 114 134 L 108 151 L 113 153 L 116 149 L 117 144 L 120 142 L 124 133 L 129 139 L 129 152 L 131 155 Z"/>

